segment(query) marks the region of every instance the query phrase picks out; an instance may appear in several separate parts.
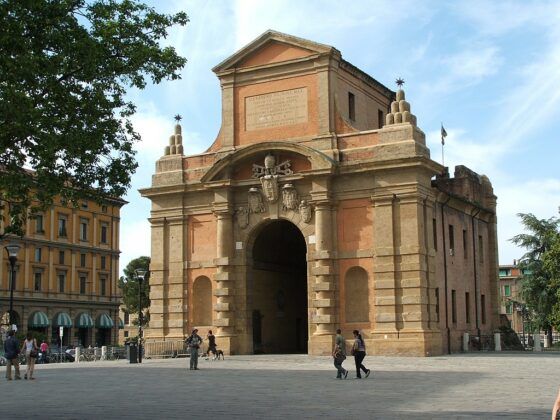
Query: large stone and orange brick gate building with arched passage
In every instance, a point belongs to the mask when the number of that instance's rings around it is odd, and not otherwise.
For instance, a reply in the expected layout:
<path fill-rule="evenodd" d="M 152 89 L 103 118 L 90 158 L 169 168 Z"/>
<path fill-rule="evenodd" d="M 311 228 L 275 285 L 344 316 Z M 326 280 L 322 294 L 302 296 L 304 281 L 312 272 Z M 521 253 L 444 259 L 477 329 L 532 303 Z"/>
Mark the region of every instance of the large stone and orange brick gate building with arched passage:
<path fill-rule="evenodd" d="M 216 66 L 222 126 L 152 185 L 147 340 L 213 329 L 226 353 L 438 355 L 498 323 L 496 197 L 430 158 L 400 88 L 267 31 Z M 184 140 L 185 142 L 188 139 Z"/>

